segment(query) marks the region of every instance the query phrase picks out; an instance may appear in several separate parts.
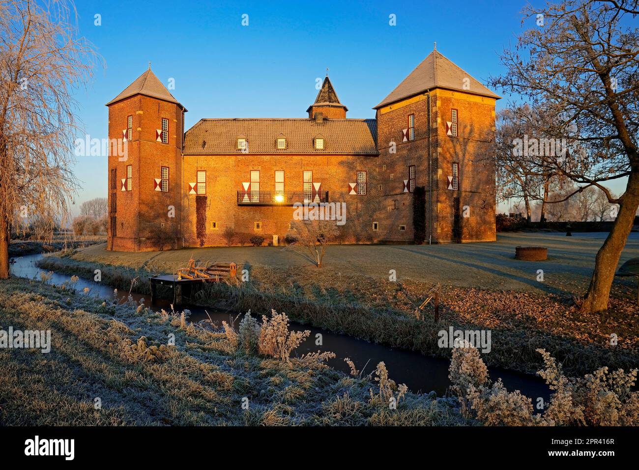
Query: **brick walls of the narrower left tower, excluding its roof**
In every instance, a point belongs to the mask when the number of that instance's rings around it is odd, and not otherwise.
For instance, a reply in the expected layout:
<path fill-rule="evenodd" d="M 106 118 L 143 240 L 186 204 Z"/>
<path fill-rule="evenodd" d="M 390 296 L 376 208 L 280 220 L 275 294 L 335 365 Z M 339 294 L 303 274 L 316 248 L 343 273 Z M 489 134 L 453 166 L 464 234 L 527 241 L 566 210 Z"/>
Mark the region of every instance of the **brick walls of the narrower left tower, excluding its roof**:
<path fill-rule="evenodd" d="M 127 128 L 127 116 L 133 116 L 132 138 L 128 142 L 127 161 L 109 156 L 111 169 L 118 173 L 118 187 L 111 192 L 116 197 L 116 237 L 111 225 L 107 246 L 116 251 L 144 251 L 181 246 L 181 136 L 183 118 L 180 106 L 142 95 L 127 98 L 109 106 L 109 138 L 122 137 Z M 169 142 L 156 141 L 156 129 L 162 128 L 162 118 L 169 120 Z M 120 191 L 121 178 L 127 165 L 132 165 L 132 191 Z M 154 179 L 160 178 L 160 168 L 169 168 L 169 191 L 154 191 Z M 169 217 L 173 206 L 174 217 Z"/>

